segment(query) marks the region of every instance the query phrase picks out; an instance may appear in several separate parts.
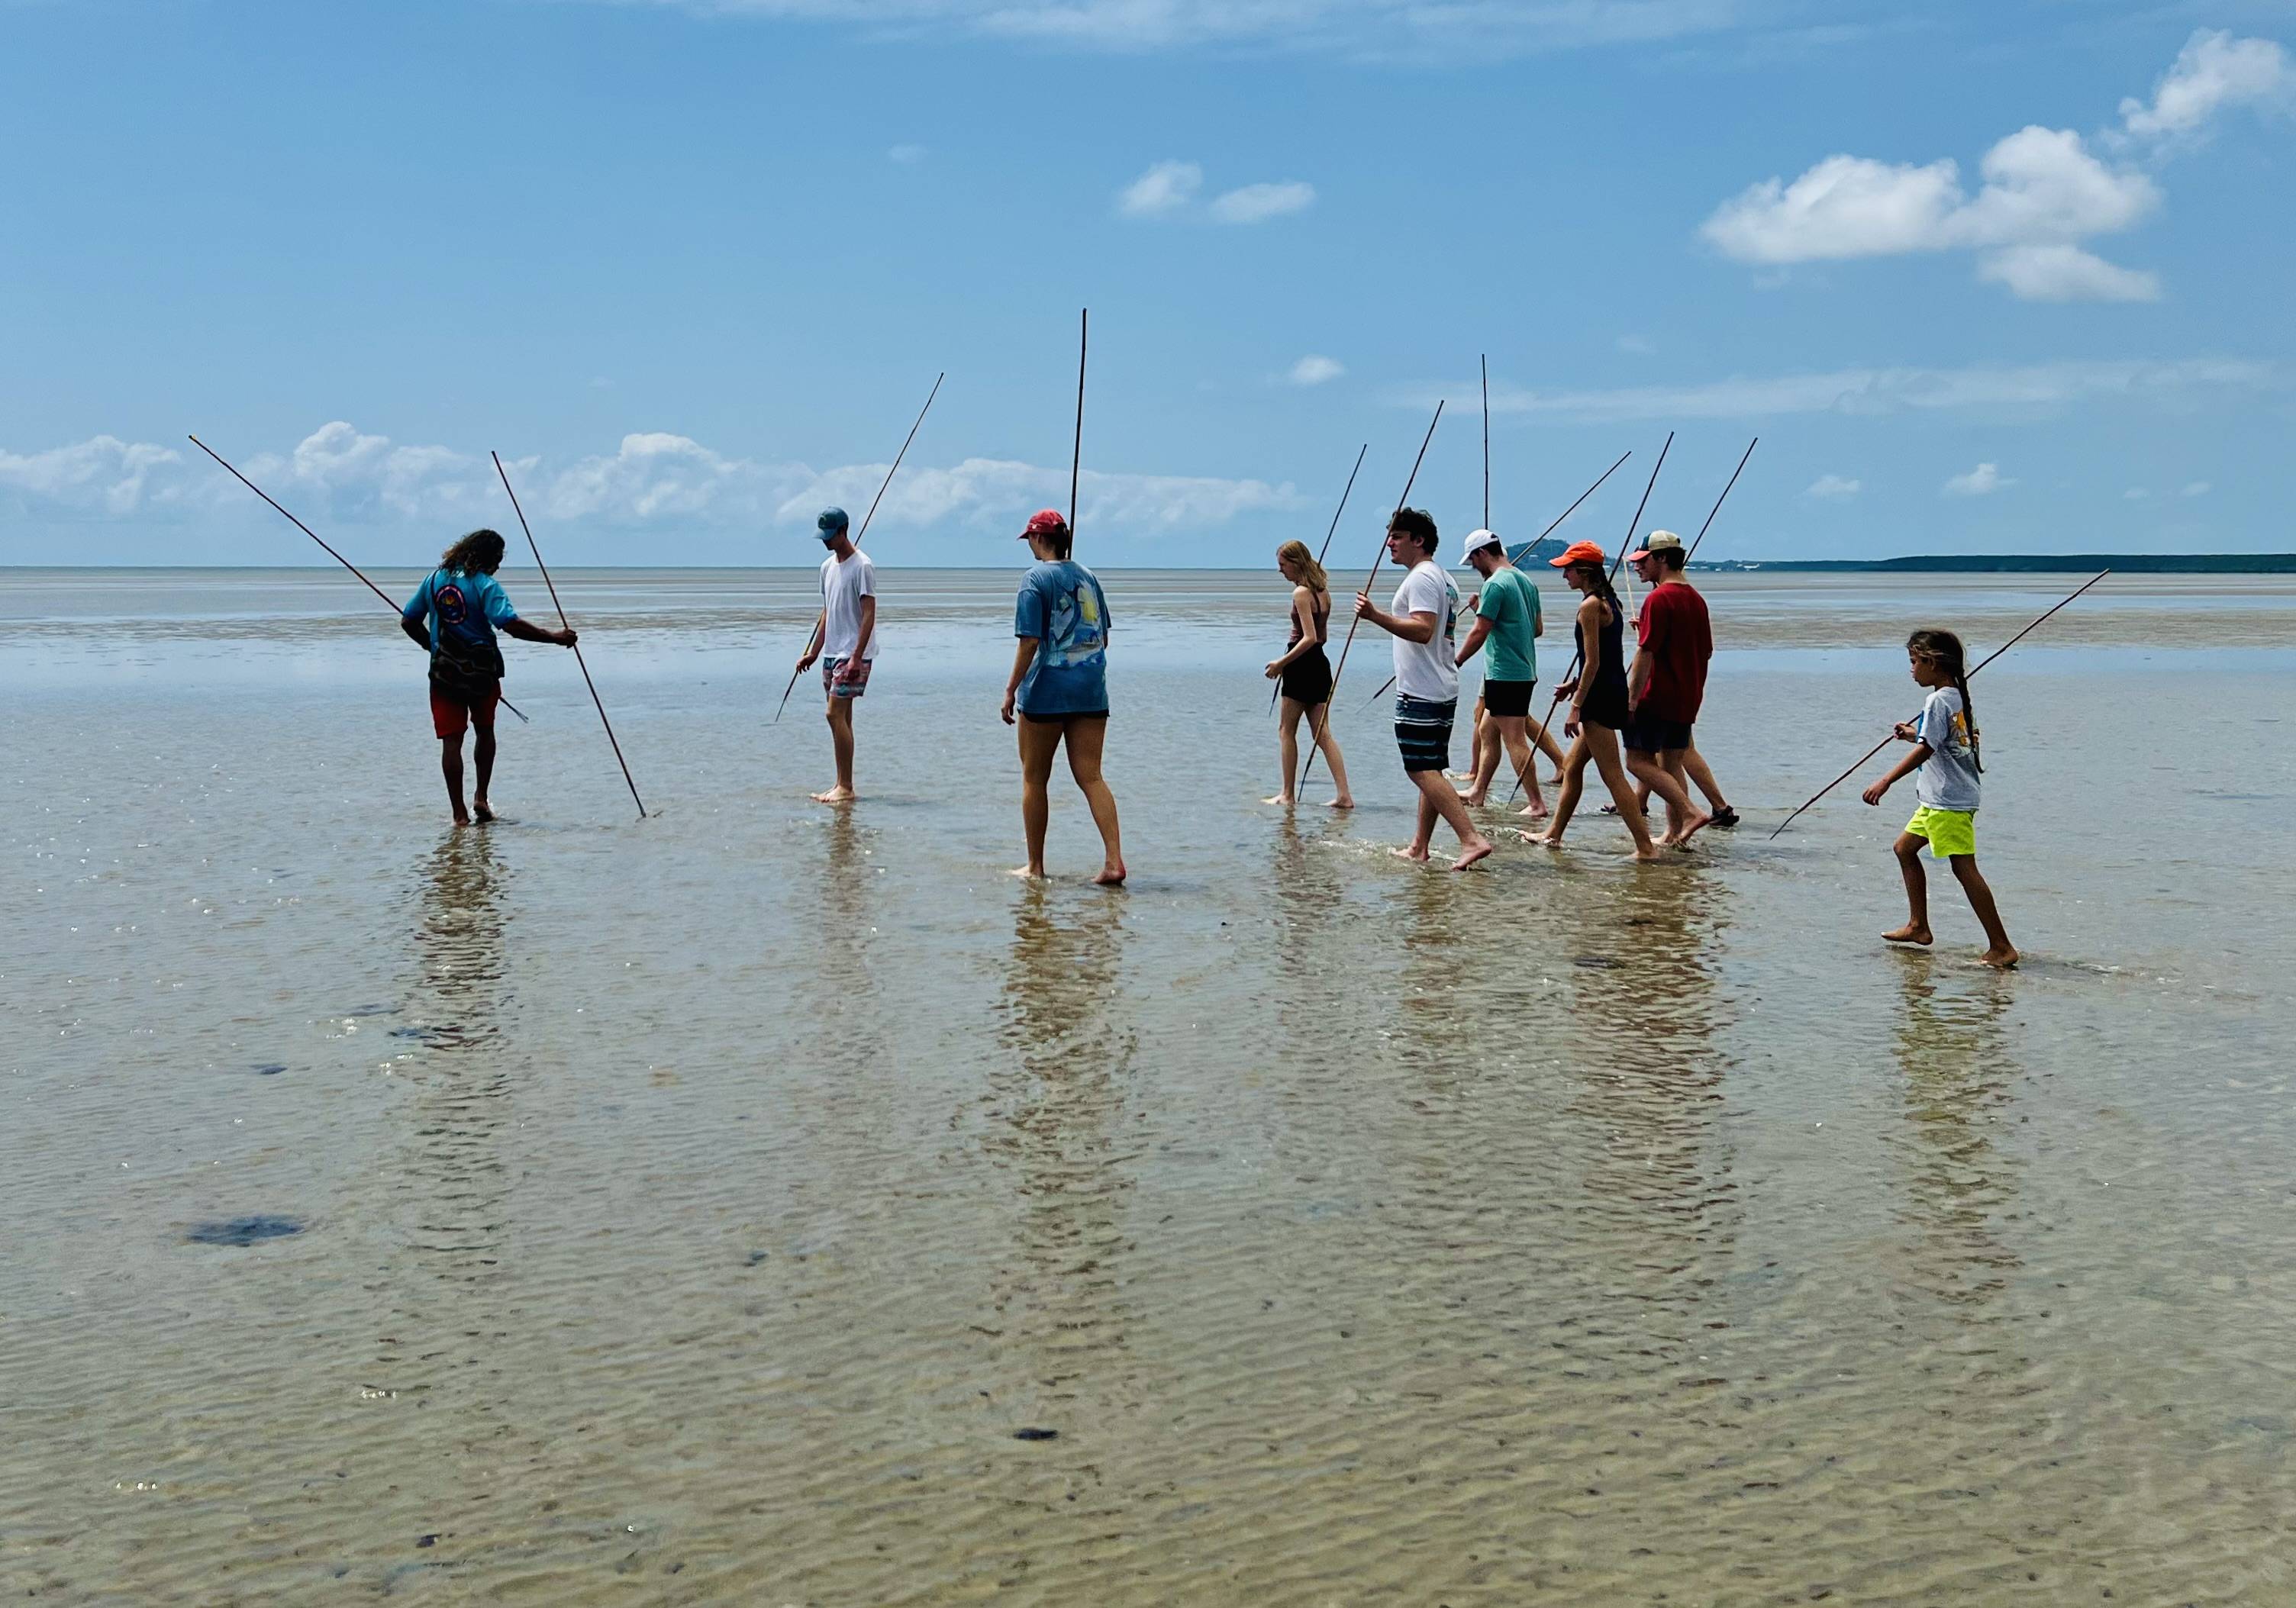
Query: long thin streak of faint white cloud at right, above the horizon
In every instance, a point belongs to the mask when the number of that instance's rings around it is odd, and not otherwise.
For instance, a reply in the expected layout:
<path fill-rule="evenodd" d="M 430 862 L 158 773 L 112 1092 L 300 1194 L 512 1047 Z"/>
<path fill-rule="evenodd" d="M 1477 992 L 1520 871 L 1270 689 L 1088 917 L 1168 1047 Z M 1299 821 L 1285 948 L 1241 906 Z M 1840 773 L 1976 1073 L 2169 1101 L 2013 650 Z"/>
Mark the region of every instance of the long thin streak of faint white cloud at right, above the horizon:
<path fill-rule="evenodd" d="M 1525 391 L 1492 386 L 1492 413 L 1531 413 L 1568 423 L 1642 418 L 1766 418 L 1779 413 L 1885 416 L 1940 409 L 2037 411 L 2101 400 L 2181 400 L 2195 391 L 2273 391 L 2287 384 L 2278 363 L 2248 358 L 2078 361 L 2025 368 L 1846 368 L 1821 374 L 1731 377 L 1685 386 L 1614 391 Z M 1474 379 L 1419 386 L 1396 395 L 1412 409 L 1474 393 Z"/>

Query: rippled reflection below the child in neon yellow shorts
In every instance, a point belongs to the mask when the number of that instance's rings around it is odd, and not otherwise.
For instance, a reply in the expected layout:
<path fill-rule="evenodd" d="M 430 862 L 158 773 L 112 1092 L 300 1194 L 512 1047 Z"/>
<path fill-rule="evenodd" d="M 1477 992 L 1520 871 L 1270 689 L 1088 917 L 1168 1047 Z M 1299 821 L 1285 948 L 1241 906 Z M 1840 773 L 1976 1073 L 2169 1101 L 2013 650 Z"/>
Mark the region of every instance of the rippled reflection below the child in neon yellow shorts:
<path fill-rule="evenodd" d="M 1981 1305 L 2018 1266 L 1993 1224 L 2016 1195 L 2016 1162 L 1991 1128 L 2011 1103 L 2016 1061 L 2002 1043 L 2009 990 L 1991 976 L 1940 976 L 1936 956 L 1899 963 L 1903 1008 L 1890 1036 L 1906 1080 L 1906 1158 L 1899 1220 L 1913 1229 L 1908 1280 L 1949 1307 Z"/>

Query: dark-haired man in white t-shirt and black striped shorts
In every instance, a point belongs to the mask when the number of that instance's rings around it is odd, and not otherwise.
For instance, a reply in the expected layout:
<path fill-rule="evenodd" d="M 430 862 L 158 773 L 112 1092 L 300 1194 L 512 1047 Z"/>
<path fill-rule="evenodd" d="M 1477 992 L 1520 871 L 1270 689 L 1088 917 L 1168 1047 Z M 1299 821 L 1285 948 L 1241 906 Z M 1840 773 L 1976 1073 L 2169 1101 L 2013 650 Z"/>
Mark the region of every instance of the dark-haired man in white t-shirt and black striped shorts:
<path fill-rule="evenodd" d="M 1394 852 L 1424 864 L 1442 818 L 1458 834 L 1460 855 L 1451 871 L 1465 871 L 1490 852 L 1490 838 L 1474 829 L 1444 774 L 1451 719 L 1458 714 L 1458 664 L 1451 657 L 1458 595 L 1435 563 L 1435 521 L 1421 510 L 1398 508 L 1387 521 L 1387 556 L 1405 572 L 1394 604 L 1382 611 L 1371 593 L 1357 593 L 1355 616 L 1396 639 L 1396 747 L 1403 749 L 1403 772 L 1419 788 L 1419 834 L 1410 848 Z"/>

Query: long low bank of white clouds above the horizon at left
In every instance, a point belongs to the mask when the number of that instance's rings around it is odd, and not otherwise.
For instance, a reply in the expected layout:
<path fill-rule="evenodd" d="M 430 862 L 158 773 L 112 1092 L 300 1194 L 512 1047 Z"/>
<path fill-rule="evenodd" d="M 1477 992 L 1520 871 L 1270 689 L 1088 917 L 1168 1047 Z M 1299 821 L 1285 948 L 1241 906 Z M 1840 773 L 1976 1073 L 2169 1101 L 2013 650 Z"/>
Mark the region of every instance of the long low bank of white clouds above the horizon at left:
<path fill-rule="evenodd" d="M 218 443 L 223 446 L 223 443 Z M 507 515 L 484 455 L 400 446 L 335 420 L 287 453 L 255 453 L 241 469 L 282 505 L 324 531 L 360 526 L 473 526 Z M 719 453 L 691 436 L 634 432 L 611 453 L 565 462 L 510 462 L 535 519 L 650 533 L 799 526 L 824 503 L 868 505 L 886 464 L 813 469 Z M 948 469 L 914 459 L 877 510 L 879 528 L 1019 528 L 1033 508 L 1068 496 L 1068 466 L 969 457 Z M 0 505 L 78 519 L 154 515 L 269 517 L 246 487 L 204 457 L 94 436 L 44 453 L 0 450 Z M 1249 512 L 1304 505 L 1290 482 L 1212 476 L 1091 473 L 1079 526 L 1118 535 L 1217 526 Z M 324 521 L 324 524 L 321 524 Z"/>

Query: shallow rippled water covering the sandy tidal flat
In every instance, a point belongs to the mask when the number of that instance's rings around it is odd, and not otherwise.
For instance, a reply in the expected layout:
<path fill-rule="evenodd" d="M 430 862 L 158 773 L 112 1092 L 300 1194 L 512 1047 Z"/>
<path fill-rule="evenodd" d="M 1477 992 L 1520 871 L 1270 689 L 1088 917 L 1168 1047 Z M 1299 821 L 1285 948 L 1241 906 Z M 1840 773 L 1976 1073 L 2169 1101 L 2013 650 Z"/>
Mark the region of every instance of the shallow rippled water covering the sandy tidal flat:
<path fill-rule="evenodd" d="M 2296 588 L 1986 671 L 1993 976 L 1910 786 L 1766 832 L 2080 577 L 1717 577 L 1747 825 L 1446 875 L 1380 645 L 1286 820 L 1281 588 L 1109 574 L 1123 894 L 1013 577 L 884 572 L 845 813 L 808 574 L 558 579 L 652 820 L 569 655 L 457 834 L 349 577 L 0 572 L 0 1594 L 2296 1599 Z"/>

